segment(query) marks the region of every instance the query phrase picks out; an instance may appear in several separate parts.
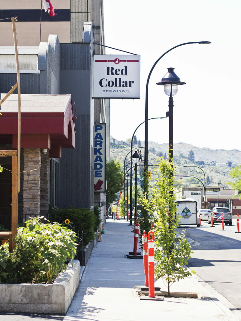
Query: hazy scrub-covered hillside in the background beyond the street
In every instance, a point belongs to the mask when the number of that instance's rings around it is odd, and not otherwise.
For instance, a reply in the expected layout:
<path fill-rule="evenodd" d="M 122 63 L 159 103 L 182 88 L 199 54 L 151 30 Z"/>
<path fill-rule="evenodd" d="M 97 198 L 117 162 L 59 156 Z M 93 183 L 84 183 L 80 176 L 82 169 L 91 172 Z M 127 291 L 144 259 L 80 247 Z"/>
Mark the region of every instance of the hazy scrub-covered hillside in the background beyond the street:
<path fill-rule="evenodd" d="M 129 143 L 123 145 L 118 145 L 117 143 L 111 143 L 111 159 L 119 160 L 122 167 L 124 163 L 125 156 L 130 151 Z M 133 147 L 133 152 L 137 150 L 137 148 L 141 149 L 142 157 L 144 157 L 144 142 L 140 142 L 141 147 Z M 157 154 L 162 152 L 163 154 L 168 155 L 168 144 L 157 144 L 154 142 L 148 142 L 148 164 L 155 164 L 155 161 L 159 158 Z M 188 154 L 190 151 L 194 152 L 194 162 L 190 162 L 188 160 Z M 151 152 L 152 151 L 152 152 Z M 224 150 L 217 149 L 213 150 L 210 148 L 200 148 L 186 143 L 177 143 L 174 144 L 173 148 L 174 154 L 174 165 L 176 167 L 176 174 L 186 175 L 186 176 L 194 176 L 201 181 L 204 182 L 204 176 L 200 169 L 195 167 L 184 168 L 183 166 L 199 166 L 203 169 L 206 176 L 206 186 L 208 184 L 217 185 L 217 183 L 221 183 L 224 187 L 228 188 L 228 182 L 233 181 L 229 177 L 229 172 L 232 167 L 235 167 L 241 164 L 241 152 L 239 150 Z M 180 155 L 181 154 L 181 155 Z M 143 158 L 142 158 L 143 159 Z M 130 157 L 128 155 L 126 164 L 129 162 Z M 203 161 L 206 162 L 204 165 L 199 165 L 196 162 Z M 216 162 L 215 166 L 210 166 L 211 162 Z M 231 162 L 231 168 L 227 165 L 228 162 Z M 222 164 L 219 166 L 218 164 Z M 151 170 L 151 169 L 149 169 Z M 153 171 L 152 171 L 153 172 Z M 155 175 L 152 174 L 152 181 L 154 181 Z M 201 184 L 197 179 L 194 178 L 183 178 L 182 180 L 178 180 L 179 184 L 183 186 L 194 186 Z"/>

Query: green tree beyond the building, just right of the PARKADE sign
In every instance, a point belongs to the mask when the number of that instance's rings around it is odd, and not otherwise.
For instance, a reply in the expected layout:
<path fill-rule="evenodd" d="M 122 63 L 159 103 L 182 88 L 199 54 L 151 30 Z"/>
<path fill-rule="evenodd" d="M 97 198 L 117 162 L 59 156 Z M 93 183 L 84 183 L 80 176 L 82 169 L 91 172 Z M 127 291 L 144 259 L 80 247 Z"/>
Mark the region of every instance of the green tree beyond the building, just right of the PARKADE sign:
<path fill-rule="evenodd" d="M 121 190 L 123 175 L 121 172 L 121 164 L 119 161 L 111 160 L 106 163 L 106 203 L 111 204 L 115 198 L 117 192 Z"/>

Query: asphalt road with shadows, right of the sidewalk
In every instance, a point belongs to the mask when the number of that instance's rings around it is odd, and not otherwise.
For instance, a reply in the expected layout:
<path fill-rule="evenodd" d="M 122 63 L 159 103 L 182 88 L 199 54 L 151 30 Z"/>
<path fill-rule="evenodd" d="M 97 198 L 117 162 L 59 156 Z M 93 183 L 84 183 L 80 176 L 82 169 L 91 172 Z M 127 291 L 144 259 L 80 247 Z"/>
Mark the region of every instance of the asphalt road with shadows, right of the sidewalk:
<path fill-rule="evenodd" d="M 192 258 L 188 267 L 196 271 L 204 282 L 231 302 L 241 314 L 241 233 L 237 231 L 237 220 L 232 226 L 215 223 L 211 228 L 206 221 L 199 228 L 185 228 L 186 236 L 200 243 L 192 246 Z M 241 226 L 240 226 L 241 227 Z"/>

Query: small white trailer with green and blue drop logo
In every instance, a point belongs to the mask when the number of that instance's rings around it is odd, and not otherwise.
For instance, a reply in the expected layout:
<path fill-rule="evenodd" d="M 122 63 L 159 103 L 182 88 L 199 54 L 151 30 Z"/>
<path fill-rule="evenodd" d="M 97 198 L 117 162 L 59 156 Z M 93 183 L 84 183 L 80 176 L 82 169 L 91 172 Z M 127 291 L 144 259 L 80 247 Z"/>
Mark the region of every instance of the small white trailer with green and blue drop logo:
<path fill-rule="evenodd" d="M 176 203 L 176 216 L 179 217 L 178 225 L 197 225 L 200 226 L 197 217 L 197 201 L 193 198 L 177 199 Z"/>

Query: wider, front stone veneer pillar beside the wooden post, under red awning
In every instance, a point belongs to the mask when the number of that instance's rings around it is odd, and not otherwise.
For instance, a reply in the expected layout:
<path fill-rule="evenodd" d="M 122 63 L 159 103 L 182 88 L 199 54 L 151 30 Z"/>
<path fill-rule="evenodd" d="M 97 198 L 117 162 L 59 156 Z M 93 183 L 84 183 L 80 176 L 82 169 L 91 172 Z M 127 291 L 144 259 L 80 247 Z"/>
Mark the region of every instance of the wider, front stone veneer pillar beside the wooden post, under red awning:
<path fill-rule="evenodd" d="M 23 149 L 23 214 L 40 214 L 40 148 Z"/>

